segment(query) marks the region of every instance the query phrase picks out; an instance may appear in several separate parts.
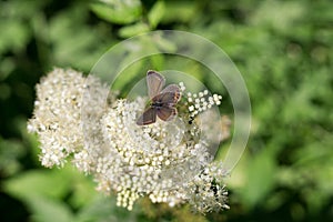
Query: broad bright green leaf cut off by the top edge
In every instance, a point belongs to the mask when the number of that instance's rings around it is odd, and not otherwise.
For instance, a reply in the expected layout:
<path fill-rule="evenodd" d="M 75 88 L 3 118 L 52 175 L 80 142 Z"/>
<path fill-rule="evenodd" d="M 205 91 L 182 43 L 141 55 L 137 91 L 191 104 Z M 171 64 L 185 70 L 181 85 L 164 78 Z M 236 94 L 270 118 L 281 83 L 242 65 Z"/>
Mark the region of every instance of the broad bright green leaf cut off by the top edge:
<path fill-rule="evenodd" d="M 91 10 L 109 22 L 128 24 L 140 19 L 142 7 L 139 0 L 109 0 L 107 3 L 92 3 Z"/>

